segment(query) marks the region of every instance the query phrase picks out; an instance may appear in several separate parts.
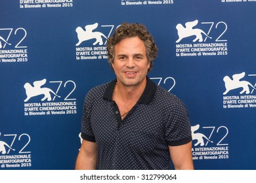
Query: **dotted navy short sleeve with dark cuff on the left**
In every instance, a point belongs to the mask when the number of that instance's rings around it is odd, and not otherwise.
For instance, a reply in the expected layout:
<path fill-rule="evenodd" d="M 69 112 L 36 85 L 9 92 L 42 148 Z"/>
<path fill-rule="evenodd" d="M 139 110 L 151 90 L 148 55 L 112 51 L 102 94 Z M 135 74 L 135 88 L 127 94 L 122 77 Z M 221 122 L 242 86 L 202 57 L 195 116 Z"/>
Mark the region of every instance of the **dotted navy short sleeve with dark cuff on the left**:
<path fill-rule="evenodd" d="M 87 141 L 95 142 L 95 136 L 91 127 L 91 110 L 93 105 L 93 91 L 90 90 L 83 104 L 83 116 L 81 120 L 81 137 Z"/>

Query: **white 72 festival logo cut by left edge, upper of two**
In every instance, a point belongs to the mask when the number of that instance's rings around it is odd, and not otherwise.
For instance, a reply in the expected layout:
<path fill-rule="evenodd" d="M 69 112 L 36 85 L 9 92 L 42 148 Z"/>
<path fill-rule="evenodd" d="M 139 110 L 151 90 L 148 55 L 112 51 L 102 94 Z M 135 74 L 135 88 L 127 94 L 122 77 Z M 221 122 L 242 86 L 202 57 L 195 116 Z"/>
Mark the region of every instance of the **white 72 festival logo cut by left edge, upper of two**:
<path fill-rule="evenodd" d="M 27 31 L 22 27 L 0 28 L 0 63 L 28 61 Z"/>

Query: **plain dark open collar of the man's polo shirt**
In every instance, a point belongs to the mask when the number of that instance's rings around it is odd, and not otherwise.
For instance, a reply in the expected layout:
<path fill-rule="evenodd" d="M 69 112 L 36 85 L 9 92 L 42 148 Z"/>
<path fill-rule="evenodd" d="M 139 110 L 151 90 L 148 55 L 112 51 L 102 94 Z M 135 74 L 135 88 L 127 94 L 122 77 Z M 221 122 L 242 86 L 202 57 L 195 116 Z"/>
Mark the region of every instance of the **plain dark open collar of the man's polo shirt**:
<path fill-rule="evenodd" d="M 117 80 L 114 79 L 110 82 L 110 84 L 106 88 L 106 92 L 103 95 L 104 99 L 112 100 L 112 93 L 113 93 L 113 89 L 116 84 L 116 81 Z M 150 103 L 152 101 L 155 93 L 156 93 L 156 84 L 152 80 L 150 80 L 150 78 L 148 78 L 148 76 L 146 76 L 146 87 L 144 89 L 144 92 L 140 96 L 138 103 L 141 103 L 141 104 Z"/>

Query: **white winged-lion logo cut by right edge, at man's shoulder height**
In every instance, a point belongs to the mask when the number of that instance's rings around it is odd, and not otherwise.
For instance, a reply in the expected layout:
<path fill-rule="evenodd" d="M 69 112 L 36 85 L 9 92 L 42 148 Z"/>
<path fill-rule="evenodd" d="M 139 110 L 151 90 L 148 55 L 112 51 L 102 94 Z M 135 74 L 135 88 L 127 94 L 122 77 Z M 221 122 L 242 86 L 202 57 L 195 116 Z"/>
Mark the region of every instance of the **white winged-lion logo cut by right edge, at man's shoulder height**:
<path fill-rule="evenodd" d="M 245 77 L 245 72 L 236 73 L 232 78 L 224 76 L 223 82 L 223 108 L 256 107 L 256 75 Z"/>

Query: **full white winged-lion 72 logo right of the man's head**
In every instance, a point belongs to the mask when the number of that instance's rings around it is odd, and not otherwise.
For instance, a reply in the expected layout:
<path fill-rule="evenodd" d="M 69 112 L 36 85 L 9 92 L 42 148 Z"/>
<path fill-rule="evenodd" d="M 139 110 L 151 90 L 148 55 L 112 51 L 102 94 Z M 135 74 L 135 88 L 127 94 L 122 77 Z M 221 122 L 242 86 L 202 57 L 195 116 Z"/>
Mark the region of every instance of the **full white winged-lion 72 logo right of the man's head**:
<path fill-rule="evenodd" d="M 176 56 L 226 56 L 228 42 L 224 38 L 228 25 L 225 22 L 198 20 L 177 24 Z M 199 28 L 203 27 L 203 29 Z M 213 35 L 213 36 L 211 36 Z"/>

